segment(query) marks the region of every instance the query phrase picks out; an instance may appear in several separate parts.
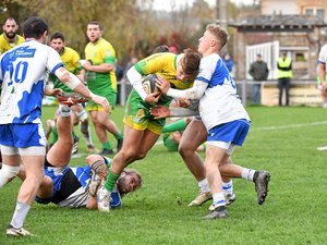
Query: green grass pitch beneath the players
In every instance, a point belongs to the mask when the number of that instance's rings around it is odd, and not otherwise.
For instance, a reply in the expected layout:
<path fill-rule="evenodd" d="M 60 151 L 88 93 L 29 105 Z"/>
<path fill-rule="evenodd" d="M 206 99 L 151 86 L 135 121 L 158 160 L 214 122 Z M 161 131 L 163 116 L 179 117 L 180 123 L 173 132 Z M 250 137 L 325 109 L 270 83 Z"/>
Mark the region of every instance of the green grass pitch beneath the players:
<path fill-rule="evenodd" d="M 45 107 L 44 121 L 53 111 Z M 237 201 L 228 208 L 229 218 L 202 220 L 210 201 L 187 207 L 197 184 L 178 152 L 158 144 L 144 160 L 130 166 L 142 173 L 144 184 L 123 198 L 122 208 L 100 213 L 35 204 L 25 226 L 36 237 L 5 237 L 20 181 L 7 185 L 0 189 L 0 244 L 326 244 L 327 151 L 316 147 L 327 145 L 327 110 L 250 107 L 247 111 L 252 126 L 233 161 L 270 172 L 263 206 L 256 204 L 252 182 L 234 180 Z M 121 128 L 122 113 L 123 108 L 113 113 Z M 116 144 L 112 137 L 111 142 Z M 82 137 L 80 154 L 72 164 L 85 162 Z"/>

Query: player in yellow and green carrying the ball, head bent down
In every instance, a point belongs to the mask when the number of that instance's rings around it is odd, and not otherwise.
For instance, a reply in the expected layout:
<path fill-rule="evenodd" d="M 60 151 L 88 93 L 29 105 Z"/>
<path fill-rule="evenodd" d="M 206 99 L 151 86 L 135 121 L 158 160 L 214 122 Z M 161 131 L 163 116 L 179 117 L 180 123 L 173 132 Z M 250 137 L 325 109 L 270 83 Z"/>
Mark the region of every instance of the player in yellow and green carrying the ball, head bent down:
<path fill-rule="evenodd" d="M 191 49 L 182 54 L 171 52 L 154 53 L 141 60 L 128 71 L 128 78 L 133 85 L 129 96 L 124 117 L 124 142 L 122 149 L 114 156 L 105 187 L 99 192 L 98 209 L 109 211 L 109 196 L 114 183 L 124 167 L 146 156 L 155 145 L 165 125 L 164 120 L 155 120 L 150 115 L 154 105 L 169 106 L 172 98 L 158 93 L 146 94 L 142 87 L 142 78 L 148 74 L 157 74 L 166 78 L 173 87 L 186 89 L 193 85 L 198 72 L 201 57 Z"/>

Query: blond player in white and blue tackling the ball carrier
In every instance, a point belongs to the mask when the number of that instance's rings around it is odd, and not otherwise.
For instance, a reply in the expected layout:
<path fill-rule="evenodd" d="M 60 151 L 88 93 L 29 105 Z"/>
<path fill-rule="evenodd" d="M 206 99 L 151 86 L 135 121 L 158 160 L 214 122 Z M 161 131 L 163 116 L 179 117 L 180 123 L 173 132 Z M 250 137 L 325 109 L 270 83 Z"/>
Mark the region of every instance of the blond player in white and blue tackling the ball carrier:
<path fill-rule="evenodd" d="M 230 155 L 241 146 L 250 128 L 250 118 L 238 96 L 235 84 L 219 57 L 220 49 L 228 40 L 227 30 L 211 24 L 199 38 L 198 51 L 203 54 L 199 73 L 192 88 L 178 90 L 158 77 L 157 86 L 164 94 L 174 98 L 199 99 L 199 115 L 208 132 L 205 159 L 206 176 L 213 193 L 210 213 L 206 219 L 226 218 L 226 199 L 220 172 L 234 170 L 255 182 L 258 204 L 263 204 L 268 192 L 268 172 L 231 164 Z"/>

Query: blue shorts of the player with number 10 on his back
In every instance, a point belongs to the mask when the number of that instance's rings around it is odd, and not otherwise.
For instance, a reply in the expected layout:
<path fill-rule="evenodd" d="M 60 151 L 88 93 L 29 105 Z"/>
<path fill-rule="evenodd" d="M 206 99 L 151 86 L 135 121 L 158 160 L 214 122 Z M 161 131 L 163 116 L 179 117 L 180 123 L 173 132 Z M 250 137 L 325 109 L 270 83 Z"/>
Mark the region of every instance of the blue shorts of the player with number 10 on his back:
<path fill-rule="evenodd" d="M 46 146 L 45 132 L 41 124 L 0 124 L 0 145 L 27 148 Z"/>

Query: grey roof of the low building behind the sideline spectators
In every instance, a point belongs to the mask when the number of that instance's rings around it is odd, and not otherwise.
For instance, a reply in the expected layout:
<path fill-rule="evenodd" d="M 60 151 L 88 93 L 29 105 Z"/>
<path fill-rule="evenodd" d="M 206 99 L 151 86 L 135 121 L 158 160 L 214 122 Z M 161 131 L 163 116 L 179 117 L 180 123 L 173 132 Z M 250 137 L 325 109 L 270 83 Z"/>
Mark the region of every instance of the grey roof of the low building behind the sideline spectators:
<path fill-rule="evenodd" d="M 229 26 L 243 32 L 313 32 L 314 27 L 327 26 L 324 20 L 316 15 L 258 15 L 250 16 Z"/>

